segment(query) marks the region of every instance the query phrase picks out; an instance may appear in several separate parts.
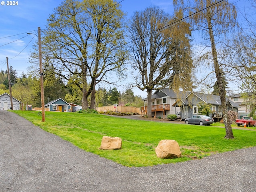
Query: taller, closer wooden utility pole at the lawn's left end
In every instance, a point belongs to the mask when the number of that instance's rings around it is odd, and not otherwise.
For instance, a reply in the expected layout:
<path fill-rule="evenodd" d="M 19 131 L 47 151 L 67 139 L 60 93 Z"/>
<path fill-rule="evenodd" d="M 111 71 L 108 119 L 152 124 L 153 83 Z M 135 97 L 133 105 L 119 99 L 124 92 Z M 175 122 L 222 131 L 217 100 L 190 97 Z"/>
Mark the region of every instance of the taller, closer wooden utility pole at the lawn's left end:
<path fill-rule="evenodd" d="M 43 72 L 43 65 L 42 65 L 42 47 L 41 47 L 41 29 L 40 29 L 40 27 L 38 27 L 38 47 L 39 47 L 39 65 L 40 65 L 42 121 L 45 121 L 45 113 L 44 113 L 44 72 Z"/>

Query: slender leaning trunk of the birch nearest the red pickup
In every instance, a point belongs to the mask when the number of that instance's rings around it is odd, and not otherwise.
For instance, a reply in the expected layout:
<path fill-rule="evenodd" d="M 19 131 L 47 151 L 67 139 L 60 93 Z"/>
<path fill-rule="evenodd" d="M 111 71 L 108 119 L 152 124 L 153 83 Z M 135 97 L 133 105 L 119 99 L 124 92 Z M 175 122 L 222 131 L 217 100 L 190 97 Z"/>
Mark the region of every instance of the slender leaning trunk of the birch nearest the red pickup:
<path fill-rule="evenodd" d="M 209 12 L 210 10 L 208 10 Z M 210 15 L 210 14 L 208 14 Z M 223 115 L 223 121 L 226 129 L 226 139 L 232 139 L 234 138 L 233 136 L 233 131 L 232 127 L 230 124 L 230 120 L 228 118 L 228 112 L 227 112 L 227 106 L 226 106 L 226 89 L 223 84 L 223 78 L 222 78 L 222 70 L 220 69 L 220 66 L 218 64 L 218 58 L 217 58 L 217 51 L 216 51 L 216 46 L 214 42 L 214 34 L 212 31 L 212 22 L 211 18 L 207 18 L 208 21 L 208 30 L 209 30 L 209 35 L 210 35 L 210 41 L 211 41 L 211 47 L 212 47 L 212 56 L 213 56 L 213 62 L 214 62 L 214 69 L 215 69 L 215 74 L 217 78 L 217 85 L 219 87 L 219 94 L 220 94 L 220 101 L 221 101 L 221 106 L 222 106 L 222 115 Z"/>

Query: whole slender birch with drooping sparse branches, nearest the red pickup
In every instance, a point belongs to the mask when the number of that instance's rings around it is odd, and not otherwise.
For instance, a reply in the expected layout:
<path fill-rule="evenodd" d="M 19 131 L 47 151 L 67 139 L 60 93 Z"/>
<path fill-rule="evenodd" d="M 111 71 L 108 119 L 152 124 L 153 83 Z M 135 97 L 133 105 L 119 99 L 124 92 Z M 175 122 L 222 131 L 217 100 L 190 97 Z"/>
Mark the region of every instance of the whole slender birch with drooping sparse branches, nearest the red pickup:
<path fill-rule="evenodd" d="M 175 10 L 182 10 L 190 17 L 190 22 L 194 24 L 194 30 L 200 30 L 204 37 L 210 41 L 211 58 L 219 89 L 222 105 L 223 120 L 226 128 L 225 138 L 234 138 L 230 120 L 228 119 L 226 106 L 226 89 L 222 64 L 219 62 L 217 44 L 226 38 L 226 34 L 236 26 L 236 7 L 228 0 L 174 0 Z M 209 58 L 209 53 L 205 58 Z"/>

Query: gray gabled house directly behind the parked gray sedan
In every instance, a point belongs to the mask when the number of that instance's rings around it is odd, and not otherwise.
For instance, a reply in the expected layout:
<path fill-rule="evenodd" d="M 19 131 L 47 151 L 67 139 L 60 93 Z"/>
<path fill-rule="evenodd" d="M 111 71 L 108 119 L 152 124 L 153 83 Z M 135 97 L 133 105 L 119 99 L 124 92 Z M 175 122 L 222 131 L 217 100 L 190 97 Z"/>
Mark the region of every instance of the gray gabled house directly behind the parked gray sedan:
<path fill-rule="evenodd" d="M 185 98 L 177 99 L 172 106 L 180 107 L 181 119 L 185 119 L 198 114 L 198 105 L 201 102 L 211 105 L 212 113 L 209 116 L 214 118 L 214 121 L 222 119 L 222 106 L 218 95 L 190 92 Z M 226 106 L 229 111 L 238 112 L 239 105 L 228 98 Z"/>

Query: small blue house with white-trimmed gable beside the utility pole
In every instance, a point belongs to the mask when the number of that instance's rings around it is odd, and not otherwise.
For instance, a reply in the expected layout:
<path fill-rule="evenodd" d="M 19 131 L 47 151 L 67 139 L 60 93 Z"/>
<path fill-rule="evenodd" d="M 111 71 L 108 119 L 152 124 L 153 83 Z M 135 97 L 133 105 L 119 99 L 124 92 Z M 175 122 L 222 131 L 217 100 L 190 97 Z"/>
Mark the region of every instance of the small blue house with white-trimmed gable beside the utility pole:
<path fill-rule="evenodd" d="M 56 99 L 44 105 L 49 108 L 49 111 L 66 112 L 71 110 L 71 105 L 64 101 L 62 98 Z"/>

